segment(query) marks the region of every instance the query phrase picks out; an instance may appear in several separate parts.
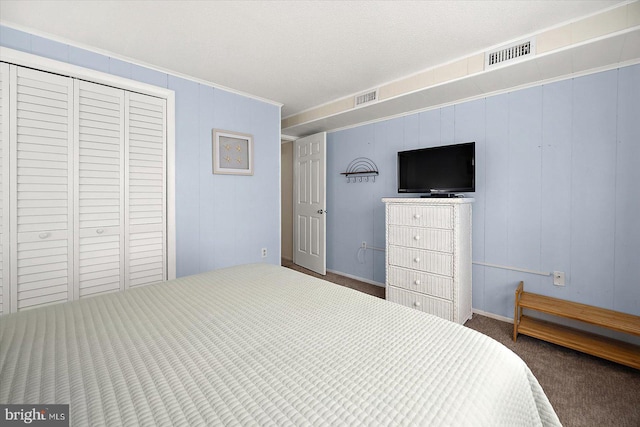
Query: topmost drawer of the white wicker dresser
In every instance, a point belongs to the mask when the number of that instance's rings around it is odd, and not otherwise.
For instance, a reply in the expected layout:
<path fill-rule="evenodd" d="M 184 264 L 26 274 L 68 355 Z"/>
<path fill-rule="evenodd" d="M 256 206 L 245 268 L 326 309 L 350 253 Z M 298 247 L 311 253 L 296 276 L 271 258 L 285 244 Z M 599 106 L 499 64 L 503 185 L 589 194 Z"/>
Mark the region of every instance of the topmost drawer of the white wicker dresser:
<path fill-rule="evenodd" d="M 453 206 L 390 204 L 387 214 L 389 224 L 448 230 L 453 228 Z"/>

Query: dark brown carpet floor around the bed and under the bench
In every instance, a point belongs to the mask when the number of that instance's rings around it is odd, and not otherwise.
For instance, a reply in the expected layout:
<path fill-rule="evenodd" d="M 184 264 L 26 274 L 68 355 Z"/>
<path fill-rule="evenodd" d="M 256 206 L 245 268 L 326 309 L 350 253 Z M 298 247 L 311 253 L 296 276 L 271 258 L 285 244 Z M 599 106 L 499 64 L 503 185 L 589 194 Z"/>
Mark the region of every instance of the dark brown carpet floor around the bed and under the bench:
<path fill-rule="evenodd" d="M 283 266 L 384 298 L 384 288 L 355 279 Z M 640 427 L 640 371 L 527 336 L 513 324 L 474 314 L 465 326 L 490 336 L 529 365 L 565 427 Z"/>

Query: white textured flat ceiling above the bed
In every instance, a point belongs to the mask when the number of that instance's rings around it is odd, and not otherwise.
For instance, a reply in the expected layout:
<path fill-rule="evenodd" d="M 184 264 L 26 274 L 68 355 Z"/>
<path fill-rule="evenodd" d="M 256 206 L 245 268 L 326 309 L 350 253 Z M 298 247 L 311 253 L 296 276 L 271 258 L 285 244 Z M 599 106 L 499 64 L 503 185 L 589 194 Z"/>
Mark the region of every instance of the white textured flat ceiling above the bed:
<path fill-rule="evenodd" d="M 287 117 L 621 2 L 2 0 L 0 19 L 283 103 Z"/>

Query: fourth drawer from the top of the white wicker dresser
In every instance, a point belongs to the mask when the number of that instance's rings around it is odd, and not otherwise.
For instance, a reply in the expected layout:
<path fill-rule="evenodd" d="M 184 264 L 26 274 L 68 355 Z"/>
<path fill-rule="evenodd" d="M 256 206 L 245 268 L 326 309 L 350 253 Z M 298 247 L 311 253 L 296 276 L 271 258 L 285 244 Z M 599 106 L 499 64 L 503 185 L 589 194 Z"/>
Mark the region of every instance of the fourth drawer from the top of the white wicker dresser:
<path fill-rule="evenodd" d="M 389 266 L 387 285 L 453 300 L 453 278 Z"/>

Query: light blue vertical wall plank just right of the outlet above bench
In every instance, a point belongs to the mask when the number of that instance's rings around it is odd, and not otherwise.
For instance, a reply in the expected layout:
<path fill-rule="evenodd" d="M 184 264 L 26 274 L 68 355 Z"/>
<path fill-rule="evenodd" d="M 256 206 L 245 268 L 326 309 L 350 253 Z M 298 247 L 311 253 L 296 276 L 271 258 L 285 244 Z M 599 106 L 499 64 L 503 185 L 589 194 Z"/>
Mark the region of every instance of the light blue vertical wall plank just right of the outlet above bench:
<path fill-rule="evenodd" d="M 613 303 L 617 71 L 573 82 L 571 275 L 576 302 Z"/>

